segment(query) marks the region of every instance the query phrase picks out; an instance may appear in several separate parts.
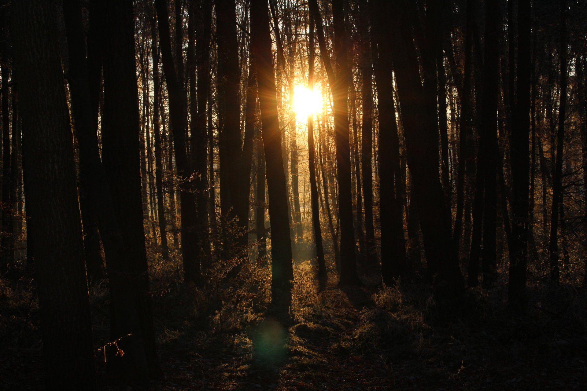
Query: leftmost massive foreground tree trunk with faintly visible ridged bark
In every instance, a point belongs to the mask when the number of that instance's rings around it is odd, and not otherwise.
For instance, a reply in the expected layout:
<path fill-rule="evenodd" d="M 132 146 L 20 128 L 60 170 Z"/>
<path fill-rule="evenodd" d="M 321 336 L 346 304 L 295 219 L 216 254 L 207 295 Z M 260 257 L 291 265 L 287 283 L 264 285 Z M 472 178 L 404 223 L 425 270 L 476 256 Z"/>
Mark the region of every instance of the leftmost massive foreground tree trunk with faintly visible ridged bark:
<path fill-rule="evenodd" d="M 35 238 L 45 388 L 94 390 L 92 323 L 56 2 L 13 2 L 11 13 L 26 210 L 35 220 L 28 234 Z"/>

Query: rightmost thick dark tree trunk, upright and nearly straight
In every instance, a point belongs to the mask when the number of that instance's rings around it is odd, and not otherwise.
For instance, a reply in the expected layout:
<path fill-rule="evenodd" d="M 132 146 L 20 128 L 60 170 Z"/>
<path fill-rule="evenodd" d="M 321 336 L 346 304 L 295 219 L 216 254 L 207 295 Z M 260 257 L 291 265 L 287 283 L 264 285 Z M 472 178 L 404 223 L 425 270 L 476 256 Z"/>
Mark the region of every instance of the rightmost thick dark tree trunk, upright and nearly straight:
<path fill-rule="evenodd" d="M 509 297 L 522 305 L 526 288 L 528 253 L 528 185 L 530 130 L 530 1 L 518 2 L 518 82 L 514 126 L 510 135 L 510 161 L 513 183 L 512 243 L 510 246 Z M 510 77 L 513 77 L 510 74 Z"/>

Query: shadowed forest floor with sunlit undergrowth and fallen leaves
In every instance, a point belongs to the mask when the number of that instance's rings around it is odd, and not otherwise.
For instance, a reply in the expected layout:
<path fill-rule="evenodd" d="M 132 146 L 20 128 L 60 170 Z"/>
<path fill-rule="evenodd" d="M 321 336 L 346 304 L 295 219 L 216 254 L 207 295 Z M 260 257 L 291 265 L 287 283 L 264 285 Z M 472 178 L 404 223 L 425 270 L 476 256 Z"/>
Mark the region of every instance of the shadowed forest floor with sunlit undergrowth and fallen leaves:
<path fill-rule="evenodd" d="M 467 290 L 463 310 L 446 316 L 423 281 L 383 288 L 329 281 L 319 291 L 306 261 L 296 266 L 294 319 L 284 324 L 264 316 L 266 267 L 241 271 L 249 283 L 217 290 L 212 305 L 210 291 L 182 287 L 173 270 L 157 267 L 151 290 L 164 375 L 151 383 L 155 390 L 587 386 L 587 298 L 568 285 L 531 286 L 527 314 L 515 317 L 498 281 Z M 90 298 L 97 349 L 108 341 L 107 287 L 93 286 Z M 42 389 L 36 301 L 30 277 L 0 279 L 0 390 Z M 98 351 L 96 365 L 99 389 L 110 389 Z"/>

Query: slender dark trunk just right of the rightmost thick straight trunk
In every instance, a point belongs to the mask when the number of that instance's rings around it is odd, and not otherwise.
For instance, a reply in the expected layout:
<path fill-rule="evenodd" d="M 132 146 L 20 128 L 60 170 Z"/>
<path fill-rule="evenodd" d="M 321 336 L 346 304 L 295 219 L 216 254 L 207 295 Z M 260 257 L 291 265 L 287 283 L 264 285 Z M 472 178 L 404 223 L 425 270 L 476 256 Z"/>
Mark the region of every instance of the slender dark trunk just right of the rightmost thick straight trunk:
<path fill-rule="evenodd" d="M 556 132 L 556 162 L 552 176 L 552 209 L 551 232 L 548 246 L 550 277 L 555 283 L 559 281 L 558 266 L 558 223 L 559 203 L 562 203 L 562 151 L 565 142 L 565 115 L 566 115 L 566 0 L 560 0 L 561 5 L 561 42 L 559 57 L 561 59 L 561 102 L 558 108 L 558 131 Z"/>

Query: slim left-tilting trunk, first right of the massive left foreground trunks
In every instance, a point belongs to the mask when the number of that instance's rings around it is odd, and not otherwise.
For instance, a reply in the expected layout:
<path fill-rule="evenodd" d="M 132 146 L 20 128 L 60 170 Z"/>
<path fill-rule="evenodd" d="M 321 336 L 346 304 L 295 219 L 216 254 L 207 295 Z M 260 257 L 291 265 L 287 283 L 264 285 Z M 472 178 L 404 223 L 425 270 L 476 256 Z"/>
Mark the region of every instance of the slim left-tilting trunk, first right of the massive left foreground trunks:
<path fill-rule="evenodd" d="M 173 132 L 174 157 L 176 158 L 177 175 L 180 180 L 181 208 L 181 255 L 184 265 L 185 283 L 200 284 L 201 270 L 198 253 L 197 215 L 192 185 L 190 162 L 187 157 L 187 97 L 180 84 L 180 79 L 173 66 L 171 39 L 169 35 L 169 19 L 166 0 L 156 0 L 159 40 L 163 73 L 169 94 L 169 118 Z M 173 193 L 172 193 L 173 195 Z"/>

